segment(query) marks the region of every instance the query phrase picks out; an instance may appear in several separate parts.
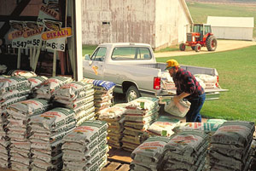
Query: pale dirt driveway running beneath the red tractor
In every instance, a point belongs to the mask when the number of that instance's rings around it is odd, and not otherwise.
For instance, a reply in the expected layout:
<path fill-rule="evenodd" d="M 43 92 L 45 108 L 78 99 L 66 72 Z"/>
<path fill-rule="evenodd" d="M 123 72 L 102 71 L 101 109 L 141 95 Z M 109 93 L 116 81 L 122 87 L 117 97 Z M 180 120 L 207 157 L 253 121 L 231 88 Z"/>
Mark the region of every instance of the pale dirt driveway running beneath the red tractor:
<path fill-rule="evenodd" d="M 156 58 L 159 57 L 169 57 L 169 56 L 182 56 L 182 55 L 193 55 L 193 54 L 205 54 L 214 52 L 223 52 L 228 50 L 233 50 L 237 48 L 245 48 L 248 46 L 256 45 L 256 42 L 252 41 L 235 41 L 235 40 L 218 40 L 218 46 L 215 51 L 207 51 L 207 47 L 201 48 L 201 52 L 195 52 L 190 47 L 186 47 L 185 51 L 170 51 L 170 52 L 160 52 L 154 53 Z"/>

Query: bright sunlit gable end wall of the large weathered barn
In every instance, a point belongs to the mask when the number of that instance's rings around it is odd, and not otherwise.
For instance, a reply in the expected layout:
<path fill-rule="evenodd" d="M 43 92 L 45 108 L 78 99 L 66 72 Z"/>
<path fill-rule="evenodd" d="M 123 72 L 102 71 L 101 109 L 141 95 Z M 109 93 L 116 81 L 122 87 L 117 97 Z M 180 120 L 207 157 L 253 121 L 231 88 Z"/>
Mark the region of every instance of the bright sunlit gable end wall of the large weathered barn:
<path fill-rule="evenodd" d="M 165 48 L 186 41 L 189 17 L 180 0 L 156 0 L 155 47 Z"/>

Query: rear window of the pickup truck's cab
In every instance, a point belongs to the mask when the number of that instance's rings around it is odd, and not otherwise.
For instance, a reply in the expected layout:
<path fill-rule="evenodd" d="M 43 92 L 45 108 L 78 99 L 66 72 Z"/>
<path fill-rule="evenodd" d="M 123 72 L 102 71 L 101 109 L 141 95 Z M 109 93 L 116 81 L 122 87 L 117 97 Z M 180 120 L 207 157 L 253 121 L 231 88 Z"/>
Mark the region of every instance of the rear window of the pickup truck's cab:
<path fill-rule="evenodd" d="M 152 58 L 148 48 L 119 47 L 113 49 L 112 60 L 150 60 Z"/>

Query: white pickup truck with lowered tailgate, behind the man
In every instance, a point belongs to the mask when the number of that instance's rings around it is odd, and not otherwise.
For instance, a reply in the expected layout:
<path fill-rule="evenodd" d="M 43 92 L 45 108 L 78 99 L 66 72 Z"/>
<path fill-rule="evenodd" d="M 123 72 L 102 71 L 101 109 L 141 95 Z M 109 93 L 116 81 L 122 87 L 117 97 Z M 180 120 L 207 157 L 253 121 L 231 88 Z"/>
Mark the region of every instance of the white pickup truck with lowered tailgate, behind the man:
<path fill-rule="evenodd" d="M 207 74 L 218 78 L 214 68 L 181 66 L 193 74 Z M 83 60 L 84 77 L 116 84 L 114 92 L 125 94 L 131 101 L 140 96 L 174 95 L 175 88 L 166 88 L 162 75 L 165 63 L 157 63 L 146 43 L 102 43 Z M 161 80 L 162 79 L 162 80 Z M 218 80 L 218 79 L 217 79 Z M 206 88 L 207 100 L 218 99 L 219 87 Z"/>

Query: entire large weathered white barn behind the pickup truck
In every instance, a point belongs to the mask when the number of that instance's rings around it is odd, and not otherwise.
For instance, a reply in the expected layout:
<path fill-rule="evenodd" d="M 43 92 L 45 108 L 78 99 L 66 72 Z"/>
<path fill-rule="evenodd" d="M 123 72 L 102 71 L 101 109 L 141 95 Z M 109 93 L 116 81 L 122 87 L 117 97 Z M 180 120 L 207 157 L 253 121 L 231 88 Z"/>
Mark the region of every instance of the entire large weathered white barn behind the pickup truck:
<path fill-rule="evenodd" d="M 84 0 L 83 44 L 185 42 L 193 23 L 184 0 Z"/>

